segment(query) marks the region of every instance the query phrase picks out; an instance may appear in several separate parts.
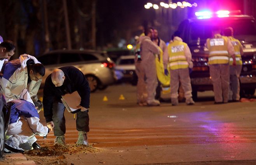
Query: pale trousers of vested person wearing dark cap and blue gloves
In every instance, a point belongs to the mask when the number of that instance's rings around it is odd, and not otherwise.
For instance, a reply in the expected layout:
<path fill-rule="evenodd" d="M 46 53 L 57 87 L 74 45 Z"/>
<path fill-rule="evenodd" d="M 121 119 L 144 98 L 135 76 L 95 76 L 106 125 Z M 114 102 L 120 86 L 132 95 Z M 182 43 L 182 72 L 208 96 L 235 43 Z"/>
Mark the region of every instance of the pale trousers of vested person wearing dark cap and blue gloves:
<path fill-rule="evenodd" d="M 188 68 L 170 70 L 170 77 L 171 98 L 178 98 L 179 82 L 181 82 L 182 88 L 184 90 L 184 97 L 186 99 L 192 97 L 192 87 Z"/>

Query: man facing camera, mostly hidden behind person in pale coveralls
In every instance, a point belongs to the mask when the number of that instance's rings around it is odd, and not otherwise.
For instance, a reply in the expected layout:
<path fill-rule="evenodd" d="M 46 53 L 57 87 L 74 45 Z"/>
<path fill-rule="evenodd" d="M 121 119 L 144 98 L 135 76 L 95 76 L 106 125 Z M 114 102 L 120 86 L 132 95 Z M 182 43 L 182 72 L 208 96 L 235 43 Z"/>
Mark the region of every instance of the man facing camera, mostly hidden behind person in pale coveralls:
<path fill-rule="evenodd" d="M 161 38 L 158 36 L 158 30 L 154 29 L 154 34 L 155 35 L 153 38 L 153 43 L 158 45 L 158 47 L 160 47 L 160 49 L 164 51 L 165 48 L 167 47 L 166 43 L 163 40 L 161 40 Z M 158 80 L 158 85 L 156 87 L 156 96 L 155 96 L 156 100 L 159 100 L 159 101 L 163 100 L 161 99 L 161 90 L 162 90 L 161 82 Z"/>

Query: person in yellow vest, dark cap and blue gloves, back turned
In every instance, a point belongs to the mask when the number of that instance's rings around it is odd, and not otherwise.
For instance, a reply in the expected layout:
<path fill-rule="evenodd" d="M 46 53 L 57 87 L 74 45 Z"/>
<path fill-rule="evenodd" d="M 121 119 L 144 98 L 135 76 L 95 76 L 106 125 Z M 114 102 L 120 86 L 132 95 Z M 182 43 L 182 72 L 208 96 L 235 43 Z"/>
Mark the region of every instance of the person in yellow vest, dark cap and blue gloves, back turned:
<path fill-rule="evenodd" d="M 179 82 L 184 89 L 184 95 L 187 105 L 193 105 L 195 102 L 192 99 L 192 87 L 189 77 L 189 69 L 193 68 L 191 61 L 192 55 L 188 45 L 182 42 L 180 32 L 175 31 L 172 36 L 173 42 L 170 42 L 163 54 L 163 64 L 165 73 L 168 74 L 167 65 L 170 66 L 170 87 L 172 105 L 178 105 L 178 89 Z"/>

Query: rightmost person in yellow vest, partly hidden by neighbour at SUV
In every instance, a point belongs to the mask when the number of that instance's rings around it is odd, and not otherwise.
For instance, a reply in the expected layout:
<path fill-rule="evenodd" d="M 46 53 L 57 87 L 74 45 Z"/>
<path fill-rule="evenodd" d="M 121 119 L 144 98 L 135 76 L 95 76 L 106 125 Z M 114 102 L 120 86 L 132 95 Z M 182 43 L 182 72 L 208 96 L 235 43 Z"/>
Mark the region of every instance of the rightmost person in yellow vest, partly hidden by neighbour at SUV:
<path fill-rule="evenodd" d="M 229 101 L 237 102 L 240 99 L 240 83 L 239 76 L 242 70 L 242 55 L 244 54 L 243 47 L 239 40 L 235 39 L 233 36 L 233 28 L 228 27 L 224 29 L 224 35 L 228 36 L 230 39 L 234 50 L 235 50 L 235 60 L 237 65 L 233 66 L 233 58 L 230 58 L 230 91 L 229 91 Z"/>

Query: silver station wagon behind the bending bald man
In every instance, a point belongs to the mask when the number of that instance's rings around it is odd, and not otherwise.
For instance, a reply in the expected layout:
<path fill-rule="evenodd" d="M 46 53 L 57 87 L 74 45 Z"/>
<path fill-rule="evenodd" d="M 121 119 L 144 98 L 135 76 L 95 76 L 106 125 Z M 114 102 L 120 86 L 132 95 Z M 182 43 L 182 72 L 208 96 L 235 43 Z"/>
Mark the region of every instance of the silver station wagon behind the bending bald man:
<path fill-rule="evenodd" d="M 54 69 L 63 66 L 74 66 L 86 76 L 91 92 L 97 89 L 103 90 L 108 85 L 116 82 L 114 62 L 107 56 L 106 52 L 95 50 L 53 50 L 37 57 L 44 64 L 46 74 L 42 79 L 41 87 L 48 75 Z"/>

